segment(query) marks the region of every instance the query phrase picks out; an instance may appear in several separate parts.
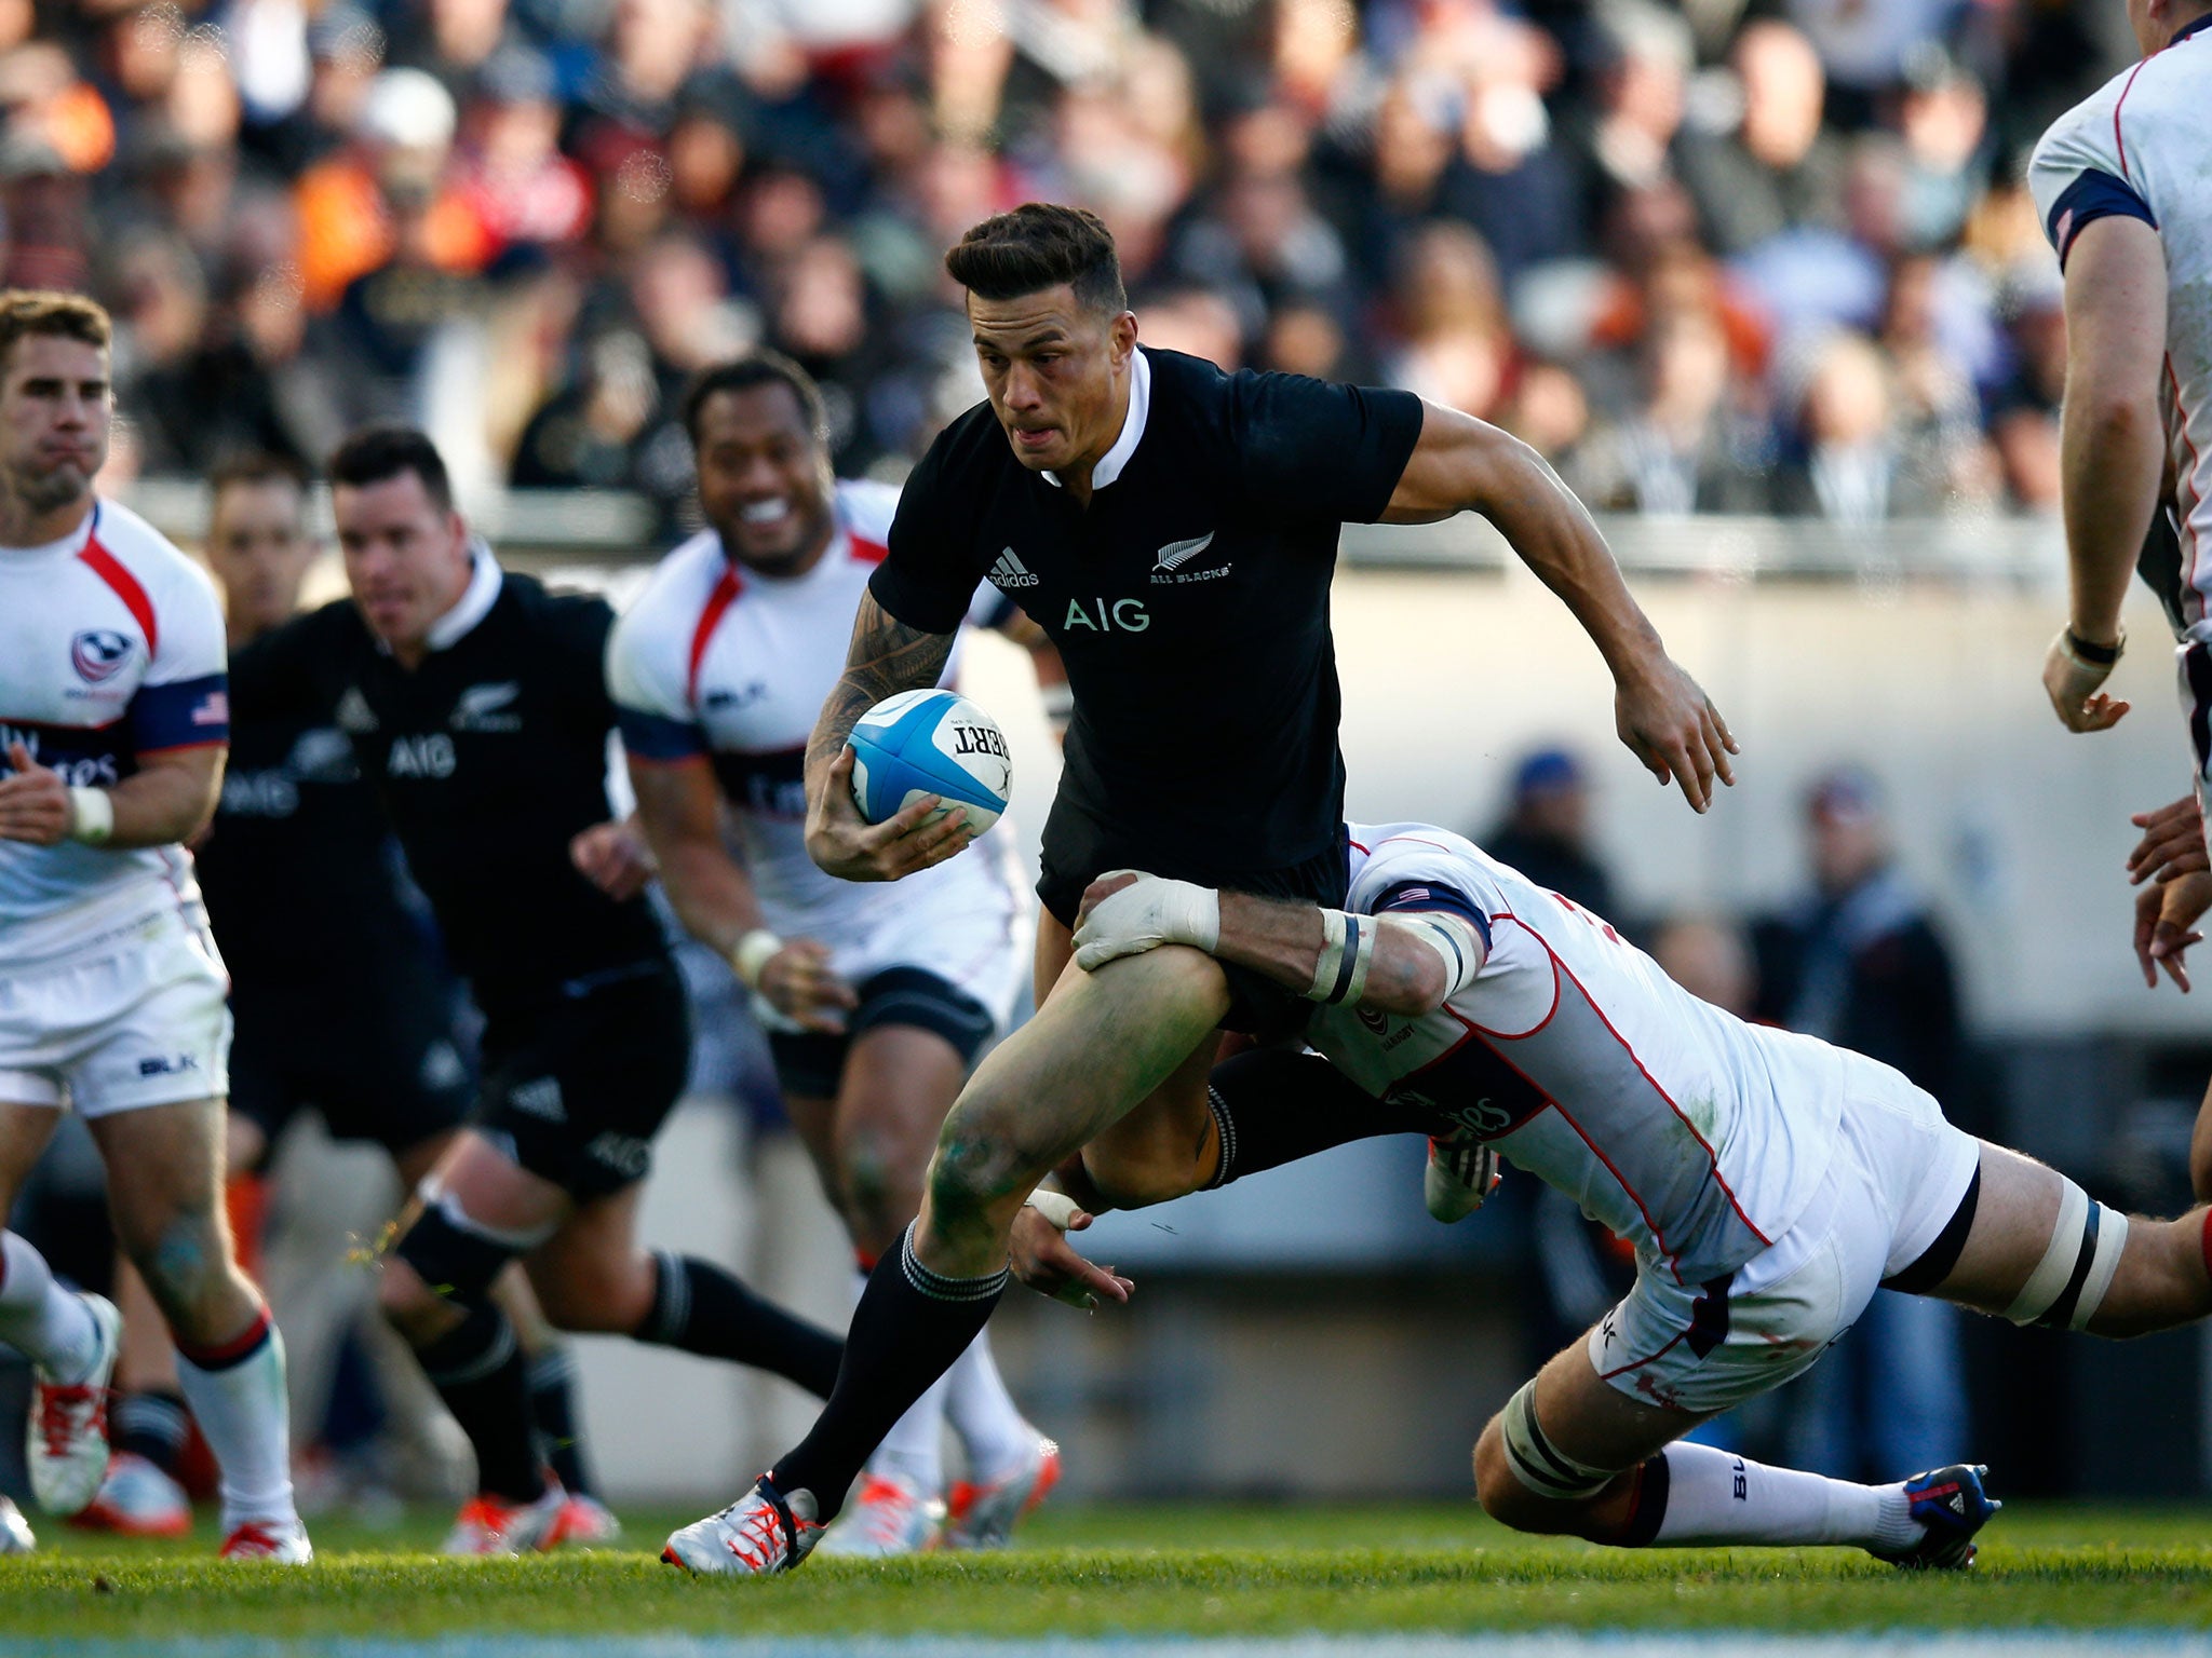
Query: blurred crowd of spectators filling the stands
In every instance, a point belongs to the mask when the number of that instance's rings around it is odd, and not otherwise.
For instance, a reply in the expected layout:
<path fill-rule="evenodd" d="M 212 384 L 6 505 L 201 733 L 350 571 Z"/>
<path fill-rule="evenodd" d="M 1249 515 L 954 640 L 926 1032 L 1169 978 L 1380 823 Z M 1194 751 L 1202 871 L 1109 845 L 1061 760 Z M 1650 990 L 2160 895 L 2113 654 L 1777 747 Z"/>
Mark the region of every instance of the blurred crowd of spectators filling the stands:
<path fill-rule="evenodd" d="M 4 279 L 115 309 L 122 471 L 405 418 L 675 526 L 754 340 L 909 464 L 980 396 L 945 245 L 1048 197 L 1148 343 L 1604 508 L 2048 511 L 2022 170 L 2128 55 L 2119 0 L 0 0 Z"/>

